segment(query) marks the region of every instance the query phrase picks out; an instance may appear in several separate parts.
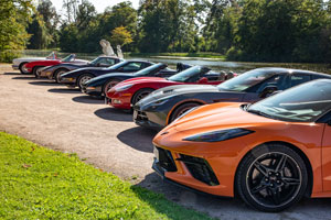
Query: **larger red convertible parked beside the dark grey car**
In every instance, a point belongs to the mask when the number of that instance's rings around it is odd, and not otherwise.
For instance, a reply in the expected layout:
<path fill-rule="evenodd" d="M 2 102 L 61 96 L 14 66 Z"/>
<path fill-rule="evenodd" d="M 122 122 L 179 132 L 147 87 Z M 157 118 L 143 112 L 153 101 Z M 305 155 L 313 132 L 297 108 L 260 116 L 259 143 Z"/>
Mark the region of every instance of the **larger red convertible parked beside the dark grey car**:
<path fill-rule="evenodd" d="M 193 66 L 169 78 L 139 77 L 117 84 L 107 92 L 106 102 L 119 109 L 131 109 L 153 90 L 177 85 L 218 85 L 224 76 L 207 67 Z"/>

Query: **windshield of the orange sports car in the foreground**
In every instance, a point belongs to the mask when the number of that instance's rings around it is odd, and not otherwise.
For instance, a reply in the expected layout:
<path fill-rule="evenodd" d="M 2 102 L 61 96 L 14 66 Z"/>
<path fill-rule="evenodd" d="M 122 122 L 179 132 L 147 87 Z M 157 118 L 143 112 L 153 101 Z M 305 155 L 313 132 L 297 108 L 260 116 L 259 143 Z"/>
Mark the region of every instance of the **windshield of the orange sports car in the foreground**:
<path fill-rule="evenodd" d="M 312 122 L 331 109 L 331 80 L 293 87 L 252 105 L 247 111 L 282 121 Z"/>

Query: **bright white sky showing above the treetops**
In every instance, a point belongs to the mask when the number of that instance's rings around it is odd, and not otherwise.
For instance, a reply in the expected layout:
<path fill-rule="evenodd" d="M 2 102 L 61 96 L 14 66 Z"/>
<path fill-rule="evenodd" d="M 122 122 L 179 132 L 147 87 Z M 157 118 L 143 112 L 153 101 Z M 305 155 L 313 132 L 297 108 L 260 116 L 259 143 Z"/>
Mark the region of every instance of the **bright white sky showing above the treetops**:
<path fill-rule="evenodd" d="M 56 11 L 60 12 L 62 10 L 63 0 L 51 0 L 52 3 L 55 6 Z M 107 7 L 113 7 L 119 2 L 127 1 L 127 0 L 89 0 L 90 3 L 94 4 L 98 13 L 105 11 Z M 139 7 L 139 0 L 130 0 L 135 9 Z"/>

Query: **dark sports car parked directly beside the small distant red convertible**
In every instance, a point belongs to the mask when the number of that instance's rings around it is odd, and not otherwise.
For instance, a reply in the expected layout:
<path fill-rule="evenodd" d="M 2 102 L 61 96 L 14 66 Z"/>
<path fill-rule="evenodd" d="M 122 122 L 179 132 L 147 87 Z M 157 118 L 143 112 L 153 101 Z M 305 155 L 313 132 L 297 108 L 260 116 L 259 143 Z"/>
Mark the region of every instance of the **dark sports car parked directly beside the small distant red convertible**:
<path fill-rule="evenodd" d="M 54 66 L 47 66 L 36 73 L 36 77 L 47 77 L 49 79 L 55 79 L 58 82 L 60 76 L 64 73 L 72 72 L 84 67 L 109 67 L 117 63 L 122 62 L 122 59 L 114 56 L 99 56 L 88 64 L 74 64 L 74 63 L 63 63 Z"/>

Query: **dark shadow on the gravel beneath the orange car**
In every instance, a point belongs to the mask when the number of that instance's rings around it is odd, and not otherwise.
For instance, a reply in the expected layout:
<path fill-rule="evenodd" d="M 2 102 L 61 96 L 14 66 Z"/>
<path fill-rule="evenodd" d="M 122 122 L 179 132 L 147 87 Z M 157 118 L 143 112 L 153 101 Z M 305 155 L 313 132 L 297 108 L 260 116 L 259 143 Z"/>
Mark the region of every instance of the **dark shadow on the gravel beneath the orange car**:
<path fill-rule="evenodd" d="M 152 162 L 151 162 L 152 164 Z M 149 190 L 163 194 L 166 198 L 188 208 L 209 213 L 220 219 L 330 219 L 330 198 L 325 199 L 302 199 L 293 207 L 286 209 L 279 213 L 267 213 L 257 211 L 244 204 L 239 198 L 216 197 L 191 189 L 182 188 L 178 185 L 162 180 L 157 173 L 151 173 L 137 185 L 132 186 L 132 190 L 140 199 L 148 202 L 157 211 L 162 212 L 161 205 L 157 199 L 148 195 L 148 191 L 137 187 L 143 187 Z"/>

